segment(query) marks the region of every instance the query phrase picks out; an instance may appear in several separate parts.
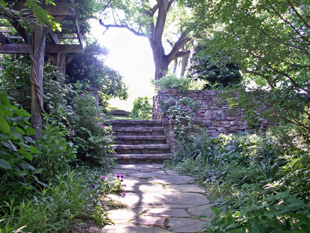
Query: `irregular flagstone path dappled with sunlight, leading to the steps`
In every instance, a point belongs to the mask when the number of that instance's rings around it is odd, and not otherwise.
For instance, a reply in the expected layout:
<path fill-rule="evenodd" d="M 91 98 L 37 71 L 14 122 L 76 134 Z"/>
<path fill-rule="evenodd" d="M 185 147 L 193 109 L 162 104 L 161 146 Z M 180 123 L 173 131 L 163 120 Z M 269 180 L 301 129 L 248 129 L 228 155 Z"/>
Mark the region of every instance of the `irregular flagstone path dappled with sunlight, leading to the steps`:
<path fill-rule="evenodd" d="M 194 233 L 210 220 L 199 219 L 202 211 L 212 215 L 204 190 L 193 184 L 192 177 L 179 176 L 162 167 L 162 164 L 127 164 L 112 169 L 111 175 L 124 176 L 126 195 L 109 197 L 128 207 L 108 211 L 115 224 L 97 233 Z"/>

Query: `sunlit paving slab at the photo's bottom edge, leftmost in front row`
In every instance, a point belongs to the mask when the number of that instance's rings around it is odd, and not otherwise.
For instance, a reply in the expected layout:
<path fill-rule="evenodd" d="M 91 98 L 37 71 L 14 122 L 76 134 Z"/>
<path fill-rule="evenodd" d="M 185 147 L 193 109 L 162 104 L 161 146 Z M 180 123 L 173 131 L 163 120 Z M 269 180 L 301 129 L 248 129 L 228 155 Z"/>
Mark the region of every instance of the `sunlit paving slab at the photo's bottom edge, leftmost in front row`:
<path fill-rule="evenodd" d="M 145 225 L 108 225 L 103 230 L 97 233 L 169 233 L 170 231 L 162 229 L 160 227 L 145 226 Z"/>

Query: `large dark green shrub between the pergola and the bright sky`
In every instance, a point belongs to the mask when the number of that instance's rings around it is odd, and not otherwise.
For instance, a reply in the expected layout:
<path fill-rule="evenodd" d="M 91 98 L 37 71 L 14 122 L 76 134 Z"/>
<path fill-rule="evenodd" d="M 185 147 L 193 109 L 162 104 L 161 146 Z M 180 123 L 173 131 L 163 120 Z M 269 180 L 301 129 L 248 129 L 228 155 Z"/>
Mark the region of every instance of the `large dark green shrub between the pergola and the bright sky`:
<path fill-rule="evenodd" d="M 76 54 L 66 66 L 67 80 L 70 83 L 89 80 L 104 95 L 125 100 L 128 98 L 128 88 L 123 77 L 104 64 L 103 57 L 107 54 L 108 50 L 97 41 L 88 43 L 83 52 Z"/>

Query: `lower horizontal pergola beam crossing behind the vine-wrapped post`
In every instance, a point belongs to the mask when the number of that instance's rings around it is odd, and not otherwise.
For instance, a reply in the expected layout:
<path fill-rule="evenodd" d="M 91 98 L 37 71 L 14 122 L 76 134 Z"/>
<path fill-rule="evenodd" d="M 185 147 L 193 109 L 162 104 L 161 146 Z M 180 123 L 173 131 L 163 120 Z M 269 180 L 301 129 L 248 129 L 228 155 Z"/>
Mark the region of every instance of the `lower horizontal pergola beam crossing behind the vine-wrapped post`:
<path fill-rule="evenodd" d="M 83 45 L 45 45 L 45 53 L 80 53 Z M 0 54 L 28 54 L 29 48 L 26 44 L 4 44 L 0 45 Z"/>

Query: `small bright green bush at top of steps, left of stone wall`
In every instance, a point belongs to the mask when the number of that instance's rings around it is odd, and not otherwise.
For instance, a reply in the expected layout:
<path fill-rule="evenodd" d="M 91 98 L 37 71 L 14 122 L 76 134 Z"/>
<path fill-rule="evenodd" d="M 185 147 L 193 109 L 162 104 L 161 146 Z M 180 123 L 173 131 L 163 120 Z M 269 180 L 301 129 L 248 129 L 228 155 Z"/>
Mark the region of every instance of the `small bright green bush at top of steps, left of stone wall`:
<path fill-rule="evenodd" d="M 148 97 L 138 97 L 133 101 L 132 117 L 142 120 L 150 120 L 152 118 L 153 107 Z"/>

